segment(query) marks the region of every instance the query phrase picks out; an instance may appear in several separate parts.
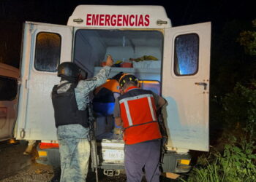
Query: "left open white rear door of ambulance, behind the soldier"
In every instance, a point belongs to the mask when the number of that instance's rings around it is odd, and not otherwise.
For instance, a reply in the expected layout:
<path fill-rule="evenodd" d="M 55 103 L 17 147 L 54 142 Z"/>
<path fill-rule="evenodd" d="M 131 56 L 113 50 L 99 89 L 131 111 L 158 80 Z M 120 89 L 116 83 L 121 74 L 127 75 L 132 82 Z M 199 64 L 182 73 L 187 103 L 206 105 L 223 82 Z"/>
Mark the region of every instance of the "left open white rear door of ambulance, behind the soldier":
<path fill-rule="evenodd" d="M 50 98 L 59 63 L 71 61 L 72 27 L 26 22 L 16 138 L 56 140 Z"/>

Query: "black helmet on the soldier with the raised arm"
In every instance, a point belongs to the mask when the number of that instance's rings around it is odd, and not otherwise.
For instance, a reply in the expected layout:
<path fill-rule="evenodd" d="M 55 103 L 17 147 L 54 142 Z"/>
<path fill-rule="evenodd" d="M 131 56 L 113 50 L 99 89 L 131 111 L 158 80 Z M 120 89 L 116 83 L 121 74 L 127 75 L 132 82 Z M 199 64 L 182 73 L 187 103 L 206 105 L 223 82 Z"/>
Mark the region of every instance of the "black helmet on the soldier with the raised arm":
<path fill-rule="evenodd" d="M 80 68 L 75 63 L 64 62 L 58 66 L 58 76 L 60 77 L 69 76 L 78 78 L 79 74 Z"/>

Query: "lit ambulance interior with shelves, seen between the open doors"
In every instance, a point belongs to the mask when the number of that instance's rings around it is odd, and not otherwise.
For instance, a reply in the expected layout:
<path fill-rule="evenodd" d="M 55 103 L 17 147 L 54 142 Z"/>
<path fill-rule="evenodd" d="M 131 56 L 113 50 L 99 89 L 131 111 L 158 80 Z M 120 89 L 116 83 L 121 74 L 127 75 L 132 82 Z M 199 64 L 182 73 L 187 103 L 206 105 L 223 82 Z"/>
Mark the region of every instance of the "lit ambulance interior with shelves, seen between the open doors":
<path fill-rule="evenodd" d="M 88 73 L 96 75 L 108 55 L 114 60 L 109 79 L 119 72 L 134 74 L 140 87 L 160 94 L 163 35 L 160 31 L 89 30 L 75 32 L 74 62 Z M 113 113 L 113 104 L 104 105 Z M 104 107 L 102 105 L 102 107 Z M 116 139 L 113 114 L 97 116 L 98 140 Z M 118 138 L 120 139 L 120 138 Z"/>

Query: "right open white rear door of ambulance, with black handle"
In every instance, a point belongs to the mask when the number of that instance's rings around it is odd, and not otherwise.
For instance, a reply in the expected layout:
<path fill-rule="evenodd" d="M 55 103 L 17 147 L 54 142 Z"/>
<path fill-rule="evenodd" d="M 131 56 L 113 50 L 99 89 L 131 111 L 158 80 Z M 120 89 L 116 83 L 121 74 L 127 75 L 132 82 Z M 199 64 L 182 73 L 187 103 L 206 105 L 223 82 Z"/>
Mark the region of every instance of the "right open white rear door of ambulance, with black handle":
<path fill-rule="evenodd" d="M 165 29 L 162 96 L 168 147 L 208 151 L 211 23 Z"/>

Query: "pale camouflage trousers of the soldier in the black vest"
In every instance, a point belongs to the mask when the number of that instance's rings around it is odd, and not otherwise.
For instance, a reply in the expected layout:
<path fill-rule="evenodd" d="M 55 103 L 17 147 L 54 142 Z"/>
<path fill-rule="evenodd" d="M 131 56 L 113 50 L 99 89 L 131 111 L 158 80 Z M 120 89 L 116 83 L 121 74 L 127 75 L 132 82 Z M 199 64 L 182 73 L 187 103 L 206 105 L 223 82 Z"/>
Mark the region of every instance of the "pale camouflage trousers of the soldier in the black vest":
<path fill-rule="evenodd" d="M 80 124 L 59 126 L 57 137 L 61 154 L 61 182 L 85 182 L 89 167 L 89 129 Z M 83 133 L 83 135 L 81 134 Z M 78 137 L 82 138 L 78 138 Z"/>

